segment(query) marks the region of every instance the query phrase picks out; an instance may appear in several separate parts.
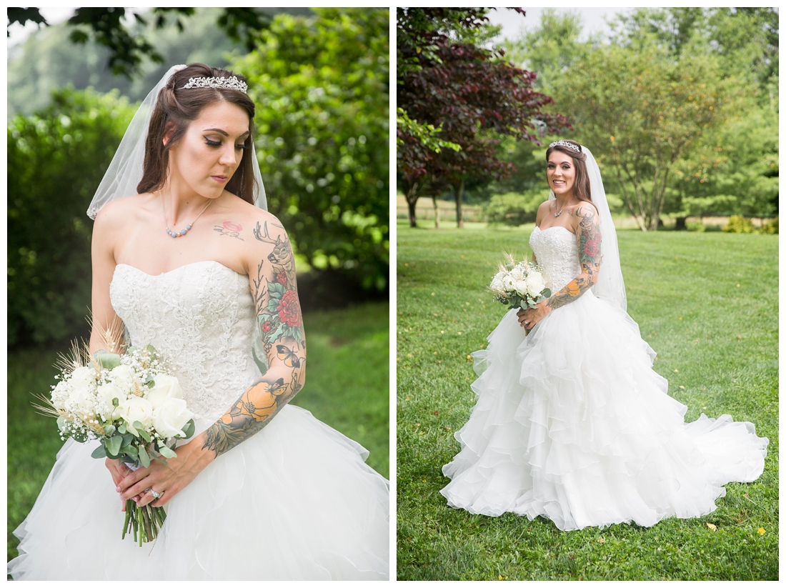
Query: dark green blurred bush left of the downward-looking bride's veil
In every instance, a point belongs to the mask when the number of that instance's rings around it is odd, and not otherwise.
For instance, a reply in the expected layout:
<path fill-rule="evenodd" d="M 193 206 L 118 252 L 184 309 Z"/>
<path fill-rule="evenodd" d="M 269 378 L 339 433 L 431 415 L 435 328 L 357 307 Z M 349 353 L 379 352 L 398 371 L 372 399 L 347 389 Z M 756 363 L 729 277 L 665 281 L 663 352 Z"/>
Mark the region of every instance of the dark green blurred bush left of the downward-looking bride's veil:
<path fill-rule="evenodd" d="M 8 344 L 86 329 L 86 210 L 135 108 L 116 93 L 59 90 L 49 108 L 8 126 Z"/>

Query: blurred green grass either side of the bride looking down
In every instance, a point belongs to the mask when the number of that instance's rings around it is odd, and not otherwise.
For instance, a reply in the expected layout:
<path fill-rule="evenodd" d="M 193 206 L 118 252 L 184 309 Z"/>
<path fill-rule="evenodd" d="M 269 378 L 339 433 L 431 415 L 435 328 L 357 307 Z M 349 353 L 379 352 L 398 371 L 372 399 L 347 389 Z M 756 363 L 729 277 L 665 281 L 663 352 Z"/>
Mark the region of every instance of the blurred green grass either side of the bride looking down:
<path fill-rule="evenodd" d="M 390 476 L 388 308 L 387 303 L 369 303 L 303 317 L 307 382 L 292 401 L 361 443 L 371 452 L 367 463 L 386 478 Z M 31 391 L 49 390 L 57 373 L 52 367 L 56 359 L 56 351 L 16 351 L 8 356 L 9 560 L 17 556 L 12 531 L 32 508 L 61 447 L 54 420 L 35 413 L 30 403 Z"/>

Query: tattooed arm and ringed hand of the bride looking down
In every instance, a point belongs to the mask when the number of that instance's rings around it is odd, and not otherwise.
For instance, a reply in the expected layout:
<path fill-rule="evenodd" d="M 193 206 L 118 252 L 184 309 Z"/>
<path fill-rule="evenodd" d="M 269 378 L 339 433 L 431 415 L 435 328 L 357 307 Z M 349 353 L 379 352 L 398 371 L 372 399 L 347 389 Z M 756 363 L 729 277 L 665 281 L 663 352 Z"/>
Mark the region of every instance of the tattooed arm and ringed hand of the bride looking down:
<path fill-rule="evenodd" d="M 267 371 L 206 431 L 178 447 L 177 458 L 166 464 L 153 461 L 120 484 L 121 498 L 147 488 L 163 496 L 163 506 L 191 483 L 211 461 L 262 430 L 302 388 L 306 380 L 306 339 L 297 296 L 295 259 L 284 227 L 276 219 L 257 222 L 254 230 L 256 261 L 249 267 L 251 293 L 261 325 Z M 150 493 L 138 505 L 154 502 Z"/>

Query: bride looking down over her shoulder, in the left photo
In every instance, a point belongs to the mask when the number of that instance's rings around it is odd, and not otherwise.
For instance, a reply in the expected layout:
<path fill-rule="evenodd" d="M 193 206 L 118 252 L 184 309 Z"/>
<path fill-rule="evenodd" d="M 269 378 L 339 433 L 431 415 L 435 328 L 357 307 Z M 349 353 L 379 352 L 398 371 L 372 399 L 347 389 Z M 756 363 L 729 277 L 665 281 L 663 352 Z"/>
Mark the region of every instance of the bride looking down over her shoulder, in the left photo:
<path fill-rule="evenodd" d="M 358 443 L 287 404 L 306 340 L 246 89 L 226 70 L 171 68 L 88 211 L 94 322 L 117 316 L 167 358 L 196 433 L 136 472 L 69 439 L 15 531 L 14 579 L 387 579 L 387 480 Z M 98 341 L 94 329 L 91 351 Z M 167 508 L 155 542 L 121 540 L 126 498 Z"/>

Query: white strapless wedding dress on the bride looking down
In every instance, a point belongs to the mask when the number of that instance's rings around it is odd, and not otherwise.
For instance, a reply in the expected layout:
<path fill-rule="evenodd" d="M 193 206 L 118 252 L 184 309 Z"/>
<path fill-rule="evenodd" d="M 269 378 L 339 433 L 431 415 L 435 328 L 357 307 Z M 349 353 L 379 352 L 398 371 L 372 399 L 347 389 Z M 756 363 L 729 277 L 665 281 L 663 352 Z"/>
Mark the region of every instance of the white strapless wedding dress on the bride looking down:
<path fill-rule="evenodd" d="M 248 277 L 220 263 L 150 276 L 116 267 L 112 306 L 134 344 L 171 360 L 196 433 L 259 377 Z M 53 432 L 54 434 L 54 432 Z M 97 442 L 69 440 L 15 531 L 14 579 L 387 579 L 388 484 L 358 443 L 297 406 L 216 458 L 167 504 L 155 542 L 124 513 Z"/>

